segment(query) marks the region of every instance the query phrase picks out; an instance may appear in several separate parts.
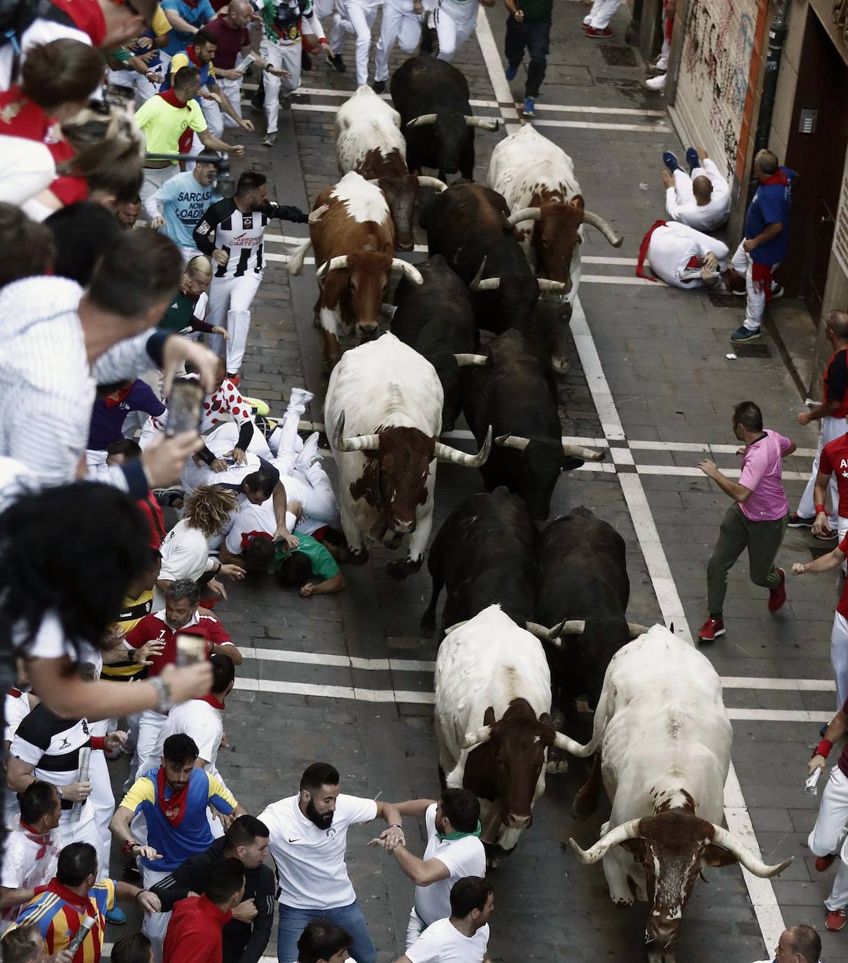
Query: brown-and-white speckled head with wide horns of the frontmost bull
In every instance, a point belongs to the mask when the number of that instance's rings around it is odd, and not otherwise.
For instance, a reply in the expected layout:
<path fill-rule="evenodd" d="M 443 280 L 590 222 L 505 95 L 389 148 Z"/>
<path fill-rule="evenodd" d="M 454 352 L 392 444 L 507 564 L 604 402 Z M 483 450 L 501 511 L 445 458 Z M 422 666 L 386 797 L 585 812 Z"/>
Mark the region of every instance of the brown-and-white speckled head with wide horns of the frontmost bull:
<path fill-rule="evenodd" d="M 755 876 L 769 877 L 783 872 L 792 862 L 790 856 L 783 863 L 767 865 L 727 829 L 695 816 L 694 805 L 624 822 L 591 849 L 581 849 L 573 839 L 568 842 L 586 865 L 603 859 L 613 846 L 624 846 L 642 864 L 651 904 L 645 938 L 649 953 L 655 957 L 667 953 L 677 941 L 683 907 L 703 867 L 739 862 Z"/>

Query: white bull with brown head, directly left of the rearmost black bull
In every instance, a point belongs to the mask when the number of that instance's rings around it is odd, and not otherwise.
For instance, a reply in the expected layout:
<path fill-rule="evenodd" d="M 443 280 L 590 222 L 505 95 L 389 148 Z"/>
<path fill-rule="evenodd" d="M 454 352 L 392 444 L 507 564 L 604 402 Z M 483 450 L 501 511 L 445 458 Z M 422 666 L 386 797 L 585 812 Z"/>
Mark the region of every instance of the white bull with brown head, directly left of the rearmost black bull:
<path fill-rule="evenodd" d="M 383 192 L 395 224 L 398 250 L 412 250 L 412 214 L 420 187 L 444 191 L 437 177 L 411 174 L 406 169 L 406 141 L 400 115 L 368 84 L 363 84 L 336 114 L 336 158 L 339 172 L 355 170 Z"/>

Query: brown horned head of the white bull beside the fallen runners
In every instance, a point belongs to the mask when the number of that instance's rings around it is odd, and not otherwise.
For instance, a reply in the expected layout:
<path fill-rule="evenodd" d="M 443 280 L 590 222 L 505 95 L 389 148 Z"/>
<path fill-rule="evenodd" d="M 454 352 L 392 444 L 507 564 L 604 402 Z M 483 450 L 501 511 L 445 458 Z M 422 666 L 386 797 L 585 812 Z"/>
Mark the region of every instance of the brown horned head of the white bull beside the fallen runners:
<path fill-rule="evenodd" d="M 380 428 L 373 434 L 346 438 L 343 414 L 336 426 L 333 449 L 337 453 L 362 452 L 367 456 L 365 476 L 351 484 L 351 494 L 354 498 L 365 497 L 383 513 L 393 532 L 410 534 L 415 531 L 416 508 L 426 502 L 426 481 L 433 458 L 478 468 L 492 449 L 492 429 L 479 452 L 468 455 L 417 428 Z"/>

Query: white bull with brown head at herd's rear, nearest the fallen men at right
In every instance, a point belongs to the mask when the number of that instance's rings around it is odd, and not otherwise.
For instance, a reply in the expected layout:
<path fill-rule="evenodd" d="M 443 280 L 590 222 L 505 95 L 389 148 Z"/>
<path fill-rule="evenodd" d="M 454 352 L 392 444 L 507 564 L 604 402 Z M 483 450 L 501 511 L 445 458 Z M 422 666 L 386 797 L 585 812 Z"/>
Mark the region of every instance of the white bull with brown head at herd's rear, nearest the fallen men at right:
<path fill-rule="evenodd" d="M 564 150 L 525 124 L 492 151 L 489 186 L 509 206 L 509 222 L 536 273 L 566 284 L 572 304 L 580 283 L 583 224 L 597 228 L 612 247 L 619 237 L 603 218 L 583 206 L 574 163 Z"/>

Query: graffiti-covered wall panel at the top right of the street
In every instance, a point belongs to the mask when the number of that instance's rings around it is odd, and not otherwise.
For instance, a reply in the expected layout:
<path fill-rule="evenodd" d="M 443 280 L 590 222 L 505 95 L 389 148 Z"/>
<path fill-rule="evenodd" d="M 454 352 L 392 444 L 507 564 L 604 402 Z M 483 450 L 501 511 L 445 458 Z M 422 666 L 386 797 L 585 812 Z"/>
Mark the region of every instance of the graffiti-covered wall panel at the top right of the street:
<path fill-rule="evenodd" d="M 739 151 L 757 10 L 758 0 L 691 0 L 686 15 L 679 96 L 688 101 L 687 113 L 707 125 L 730 170 Z"/>

